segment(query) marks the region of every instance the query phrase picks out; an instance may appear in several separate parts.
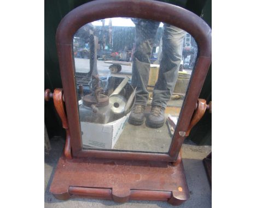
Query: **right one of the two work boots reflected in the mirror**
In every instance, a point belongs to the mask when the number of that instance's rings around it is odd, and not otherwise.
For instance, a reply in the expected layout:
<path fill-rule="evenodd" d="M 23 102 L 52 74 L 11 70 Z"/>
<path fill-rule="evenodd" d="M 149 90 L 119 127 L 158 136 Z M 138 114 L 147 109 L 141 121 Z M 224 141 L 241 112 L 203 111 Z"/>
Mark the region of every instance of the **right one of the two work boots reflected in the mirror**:
<path fill-rule="evenodd" d="M 160 128 L 165 123 L 165 108 L 161 106 L 152 106 L 150 115 L 147 119 L 147 126 L 151 128 Z"/>

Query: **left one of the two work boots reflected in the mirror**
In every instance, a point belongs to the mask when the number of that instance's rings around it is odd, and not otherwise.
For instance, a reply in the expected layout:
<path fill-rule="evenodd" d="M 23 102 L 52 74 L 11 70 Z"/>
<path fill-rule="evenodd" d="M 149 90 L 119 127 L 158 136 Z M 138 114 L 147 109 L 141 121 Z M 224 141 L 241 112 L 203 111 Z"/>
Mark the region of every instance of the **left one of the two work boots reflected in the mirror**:
<path fill-rule="evenodd" d="M 144 122 L 144 111 L 145 111 L 145 106 L 142 106 L 142 105 L 133 106 L 132 112 L 128 119 L 129 123 L 135 126 L 142 125 Z"/>

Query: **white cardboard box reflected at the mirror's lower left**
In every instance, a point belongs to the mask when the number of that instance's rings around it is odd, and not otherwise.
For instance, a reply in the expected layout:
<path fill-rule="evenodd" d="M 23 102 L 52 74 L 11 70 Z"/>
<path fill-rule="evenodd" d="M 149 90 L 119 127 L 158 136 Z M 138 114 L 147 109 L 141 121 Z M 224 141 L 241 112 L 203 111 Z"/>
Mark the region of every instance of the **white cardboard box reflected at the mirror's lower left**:
<path fill-rule="evenodd" d="M 84 148 L 113 149 L 130 113 L 108 124 L 80 122 Z"/>

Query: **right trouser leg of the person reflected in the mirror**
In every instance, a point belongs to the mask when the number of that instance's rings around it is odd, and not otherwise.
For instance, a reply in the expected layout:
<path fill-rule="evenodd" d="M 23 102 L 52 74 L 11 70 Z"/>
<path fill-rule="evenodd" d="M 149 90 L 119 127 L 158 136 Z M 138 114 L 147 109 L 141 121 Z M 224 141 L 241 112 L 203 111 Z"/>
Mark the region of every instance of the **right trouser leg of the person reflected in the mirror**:
<path fill-rule="evenodd" d="M 162 35 L 162 58 L 158 81 L 153 92 L 152 106 L 166 108 L 178 78 L 179 65 L 182 61 L 182 47 L 185 31 L 172 25 L 164 24 Z"/>

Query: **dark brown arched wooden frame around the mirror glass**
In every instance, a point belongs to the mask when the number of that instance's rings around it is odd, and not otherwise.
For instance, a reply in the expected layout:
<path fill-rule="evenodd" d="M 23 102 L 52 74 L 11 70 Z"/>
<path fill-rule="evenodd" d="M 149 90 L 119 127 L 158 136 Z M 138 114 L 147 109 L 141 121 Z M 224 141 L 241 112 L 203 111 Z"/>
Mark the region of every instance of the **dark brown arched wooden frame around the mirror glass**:
<path fill-rule="evenodd" d="M 133 152 L 121 150 L 84 150 L 80 131 L 73 36 L 83 25 L 111 17 L 135 17 L 169 23 L 190 33 L 199 48 L 197 62 L 183 102 L 170 149 L 166 153 Z M 85 3 L 69 12 L 60 22 L 56 33 L 63 91 L 68 119 L 67 133 L 75 157 L 98 157 L 124 160 L 169 161 L 177 160 L 203 82 L 211 64 L 211 28 L 199 16 L 172 4 L 146 0 L 97 0 Z"/>

